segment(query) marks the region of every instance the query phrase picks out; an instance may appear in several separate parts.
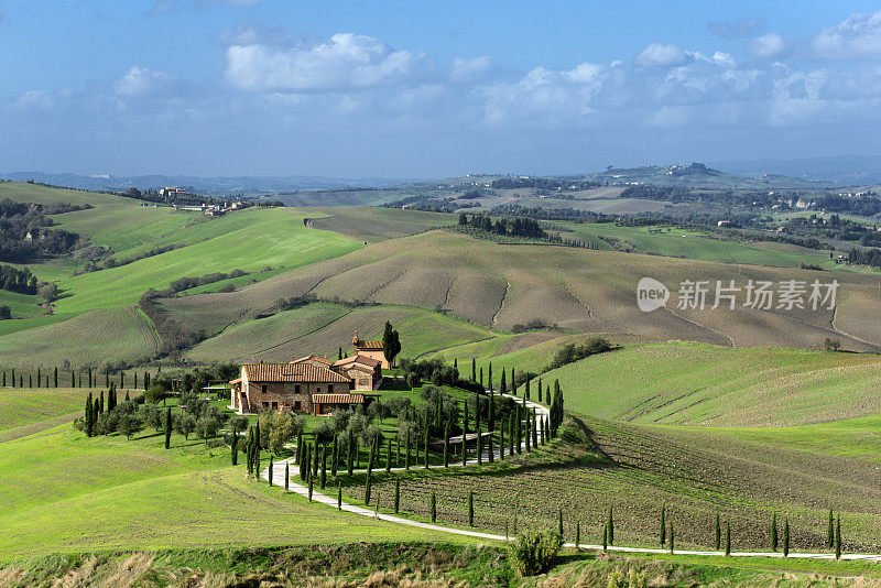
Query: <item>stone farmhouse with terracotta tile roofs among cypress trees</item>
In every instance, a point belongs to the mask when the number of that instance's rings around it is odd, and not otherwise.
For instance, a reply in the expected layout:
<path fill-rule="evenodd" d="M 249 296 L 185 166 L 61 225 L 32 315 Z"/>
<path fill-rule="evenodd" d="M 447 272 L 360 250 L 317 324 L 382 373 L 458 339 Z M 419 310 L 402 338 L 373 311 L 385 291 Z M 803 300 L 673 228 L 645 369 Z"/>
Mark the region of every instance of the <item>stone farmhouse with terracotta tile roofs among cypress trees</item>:
<path fill-rule="evenodd" d="M 287 363 L 246 363 L 230 382 L 230 407 L 242 414 L 270 410 L 322 415 L 366 406 L 373 396 L 365 392 L 379 388 L 388 361 L 382 341 L 363 341 L 356 331 L 352 345 L 355 356 L 338 361 L 306 356 Z"/>

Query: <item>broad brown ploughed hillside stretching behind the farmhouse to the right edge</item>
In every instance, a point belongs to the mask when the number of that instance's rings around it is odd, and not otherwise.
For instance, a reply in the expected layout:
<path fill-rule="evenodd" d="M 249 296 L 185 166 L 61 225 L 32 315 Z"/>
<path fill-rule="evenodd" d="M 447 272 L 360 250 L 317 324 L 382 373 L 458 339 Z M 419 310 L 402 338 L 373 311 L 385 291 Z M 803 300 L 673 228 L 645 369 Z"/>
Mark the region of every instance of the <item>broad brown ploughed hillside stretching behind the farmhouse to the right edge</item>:
<path fill-rule="evenodd" d="M 873 294 L 881 283 L 878 276 L 835 274 L 842 285 L 834 327 L 833 313 L 825 309 L 673 308 L 642 313 L 635 304 L 635 286 L 646 275 L 663 276 L 673 290 L 695 279 L 711 284 L 736 280 L 740 285 L 747 280 L 831 279 L 830 274 L 808 270 L 555 246 L 504 246 L 429 231 L 298 268 L 235 293 L 175 298 L 166 307 L 216 333 L 253 316 L 276 298 L 313 293 L 326 298 L 443 308 L 498 329 L 541 318 L 577 331 L 650 340 L 816 347 L 825 337 L 835 337 L 846 349 L 879 348 L 881 324 L 862 318 L 874 313 Z"/>

